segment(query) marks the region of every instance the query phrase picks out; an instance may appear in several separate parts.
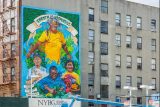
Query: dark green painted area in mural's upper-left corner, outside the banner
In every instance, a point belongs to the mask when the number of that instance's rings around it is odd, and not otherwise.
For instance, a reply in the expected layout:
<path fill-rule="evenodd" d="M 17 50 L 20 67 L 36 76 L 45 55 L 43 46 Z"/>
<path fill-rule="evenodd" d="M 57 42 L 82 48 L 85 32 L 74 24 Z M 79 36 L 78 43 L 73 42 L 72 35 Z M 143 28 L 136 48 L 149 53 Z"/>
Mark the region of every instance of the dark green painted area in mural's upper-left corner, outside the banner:
<path fill-rule="evenodd" d="M 28 36 L 30 32 L 26 30 L 26 27 L 33 23 L 34 19 L 40 15 L 43 15 L 46 13 L 45 10 L 38 10 L 38 9 L 33 9 L 33 8 L 24 8 L 24 16 L 23 16 L 23 24 L 24 24 L 24 42 L 28 40 Z"/>

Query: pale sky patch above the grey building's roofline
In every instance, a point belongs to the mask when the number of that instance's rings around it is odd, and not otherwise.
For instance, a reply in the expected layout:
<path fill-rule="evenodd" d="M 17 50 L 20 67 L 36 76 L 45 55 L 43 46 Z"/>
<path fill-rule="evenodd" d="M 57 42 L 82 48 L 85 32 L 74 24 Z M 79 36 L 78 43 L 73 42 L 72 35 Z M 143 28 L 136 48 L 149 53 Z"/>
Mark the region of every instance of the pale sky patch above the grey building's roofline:
<path fill-rule="evenodd" d="M 128 0 L 128 1 L 159 7 L 159 0 Z"/>

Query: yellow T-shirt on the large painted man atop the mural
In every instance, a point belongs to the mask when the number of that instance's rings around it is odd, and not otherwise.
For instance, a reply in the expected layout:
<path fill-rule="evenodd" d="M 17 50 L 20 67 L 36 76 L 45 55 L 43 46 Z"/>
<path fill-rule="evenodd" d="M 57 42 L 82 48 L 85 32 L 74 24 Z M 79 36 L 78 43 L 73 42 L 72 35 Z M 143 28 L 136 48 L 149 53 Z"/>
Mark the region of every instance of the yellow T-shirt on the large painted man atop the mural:
<path fill-rule="evenodd" d="M 46 57 L 60 63 L 60 50 L 62 45 L 66 43 L 64 35 L 59 31 L 57 33 L 44 31 L 38 41 L 45 43 Z"/>

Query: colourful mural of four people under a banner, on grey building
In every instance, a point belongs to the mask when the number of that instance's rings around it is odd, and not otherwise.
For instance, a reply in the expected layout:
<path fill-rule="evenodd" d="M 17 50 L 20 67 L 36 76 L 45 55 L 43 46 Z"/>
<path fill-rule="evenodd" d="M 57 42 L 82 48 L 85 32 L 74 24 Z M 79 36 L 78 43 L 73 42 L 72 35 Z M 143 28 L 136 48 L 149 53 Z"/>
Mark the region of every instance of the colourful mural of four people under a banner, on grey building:
<path fill-rule="evenodd" d="M 79 14 L 22 7 L 21 95 L 80 95 Z"/>

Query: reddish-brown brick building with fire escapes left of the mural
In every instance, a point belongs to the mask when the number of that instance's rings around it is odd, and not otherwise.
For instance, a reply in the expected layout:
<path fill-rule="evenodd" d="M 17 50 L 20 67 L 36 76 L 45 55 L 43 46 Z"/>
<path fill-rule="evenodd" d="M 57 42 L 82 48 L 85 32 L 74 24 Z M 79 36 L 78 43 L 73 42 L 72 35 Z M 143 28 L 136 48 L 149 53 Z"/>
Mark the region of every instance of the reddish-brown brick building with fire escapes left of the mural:
<path fill-rule="evenodd" d="M 19 96 L 19 2 L 0 0 L 0 96 Z"/>

